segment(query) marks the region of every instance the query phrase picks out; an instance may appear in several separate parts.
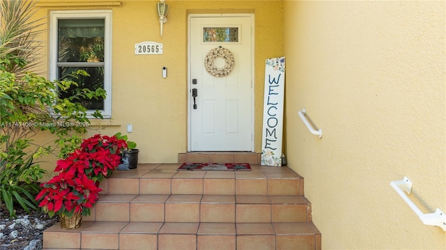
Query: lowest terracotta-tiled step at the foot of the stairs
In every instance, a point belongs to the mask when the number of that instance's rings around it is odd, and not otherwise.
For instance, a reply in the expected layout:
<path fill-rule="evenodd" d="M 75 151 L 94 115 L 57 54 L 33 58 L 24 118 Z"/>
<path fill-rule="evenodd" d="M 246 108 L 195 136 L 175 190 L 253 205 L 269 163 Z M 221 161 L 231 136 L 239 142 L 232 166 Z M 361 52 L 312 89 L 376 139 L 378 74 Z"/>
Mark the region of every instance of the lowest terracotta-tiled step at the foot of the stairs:
<path fill-rule="evenodd" d="M 63 239 L 63 240 L 58 240 Z M 321 249 L 321 233 L 309 223 L 84 222 L 43 235 L 45 249 Z"/>

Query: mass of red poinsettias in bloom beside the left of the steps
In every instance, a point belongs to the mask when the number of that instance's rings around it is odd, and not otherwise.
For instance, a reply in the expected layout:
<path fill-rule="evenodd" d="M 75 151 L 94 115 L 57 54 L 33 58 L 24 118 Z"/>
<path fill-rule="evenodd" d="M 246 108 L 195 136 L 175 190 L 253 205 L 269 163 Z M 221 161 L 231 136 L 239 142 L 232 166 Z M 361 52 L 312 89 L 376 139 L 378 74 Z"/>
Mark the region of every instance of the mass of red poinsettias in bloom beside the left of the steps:
<path fill-rule="evenodd" d="M 75 212 L 90 214 L 90 208 L 98 201 L 102 191 L 99 182 L 112 174 L 121 163 L 121 153 L 128 148 L 127 136 L 95 134 L 84 139 L 81 146 L 65 159 L 56 162 L 59 175 L 41 185 L 36 196 L 49 217 L 54 214 L 72 217 Z"/>

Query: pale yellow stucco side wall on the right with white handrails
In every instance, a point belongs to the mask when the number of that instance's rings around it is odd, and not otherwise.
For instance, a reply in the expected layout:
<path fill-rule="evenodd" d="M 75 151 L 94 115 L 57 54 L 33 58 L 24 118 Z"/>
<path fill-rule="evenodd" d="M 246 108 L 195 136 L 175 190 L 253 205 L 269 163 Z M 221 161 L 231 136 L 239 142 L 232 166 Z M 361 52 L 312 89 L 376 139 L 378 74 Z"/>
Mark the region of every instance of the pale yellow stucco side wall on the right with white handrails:
<path fill-rule="evenodd" d="M 446 249 L 445 1 L 285 1 L 286 151 L 323 249 Z M 323 138 L 298 116 L 305 107 Z"/>

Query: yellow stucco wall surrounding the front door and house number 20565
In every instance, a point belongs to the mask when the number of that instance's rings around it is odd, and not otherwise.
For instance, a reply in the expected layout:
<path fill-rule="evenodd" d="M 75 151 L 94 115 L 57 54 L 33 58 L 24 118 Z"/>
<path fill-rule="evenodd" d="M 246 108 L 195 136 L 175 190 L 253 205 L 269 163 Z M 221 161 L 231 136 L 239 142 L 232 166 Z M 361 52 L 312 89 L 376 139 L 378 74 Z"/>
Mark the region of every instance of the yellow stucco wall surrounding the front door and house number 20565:
<path fill-rule="evenodd" d="M 119 6 L 76 6 L 121 3 Z M 138 143 L 139 162 L 177 162 L 187 151 L 187 16 L 189 13 L 254 13 L 255 33 L 255 150 L 261 148 L 263 79 L 265 59 L 283 54 L 282 1 L 167 1 L 169 13 L 160 36 L 155 11 L 157 1 L 42 0 L 38 15 L 50 10 L 111 9 L 113 11 L 112 119 L 117 126 L 91 127 L 90 134 L 126 133 Z M 46 40 L 46 38 L 44 38 Z M 163 55 L 135 55 L 134 44 L 162 42 Z M 47 65 L 47 58 L 43 58 Z M 162 78 L 162 67 L 168 77 Z M 47 71 L 47 69 L 44 69 Z M 53 167 L 49 167 L 52 169 Z"/>

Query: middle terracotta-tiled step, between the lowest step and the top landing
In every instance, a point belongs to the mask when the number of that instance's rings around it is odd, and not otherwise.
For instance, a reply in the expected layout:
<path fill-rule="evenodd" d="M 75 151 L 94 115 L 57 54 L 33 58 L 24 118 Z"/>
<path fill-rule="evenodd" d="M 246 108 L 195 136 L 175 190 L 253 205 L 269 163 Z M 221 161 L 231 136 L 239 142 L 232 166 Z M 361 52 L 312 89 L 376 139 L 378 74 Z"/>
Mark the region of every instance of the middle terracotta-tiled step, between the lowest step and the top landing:
<path fill-rule="evenodd" d="M 199 194 L 101 195 L 84 221 L 139 222 L 309 222 L 304 196 Z"/>

